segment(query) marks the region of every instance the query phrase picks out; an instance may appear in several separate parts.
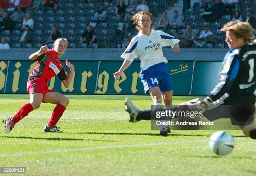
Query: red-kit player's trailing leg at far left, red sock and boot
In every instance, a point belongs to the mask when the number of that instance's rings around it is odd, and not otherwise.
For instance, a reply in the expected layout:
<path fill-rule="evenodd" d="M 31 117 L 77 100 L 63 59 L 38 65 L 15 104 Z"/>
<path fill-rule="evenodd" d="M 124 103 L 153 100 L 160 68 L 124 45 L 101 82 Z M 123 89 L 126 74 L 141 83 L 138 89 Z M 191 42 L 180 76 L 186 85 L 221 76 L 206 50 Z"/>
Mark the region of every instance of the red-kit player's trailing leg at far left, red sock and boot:
<path fill-rule="evenodd" d="M 30 103 L 23 105 L 20 110 L 13 116 L 5 118 L 5 132 L 10 133 L 10 131 L 14 128 L 14 125 L 19 122 L 21 119 L 26 117 L 29 112 L 40 107 L 40 104 L 43 99 L 43 94 L 34 93 L 29 96 Z"/>

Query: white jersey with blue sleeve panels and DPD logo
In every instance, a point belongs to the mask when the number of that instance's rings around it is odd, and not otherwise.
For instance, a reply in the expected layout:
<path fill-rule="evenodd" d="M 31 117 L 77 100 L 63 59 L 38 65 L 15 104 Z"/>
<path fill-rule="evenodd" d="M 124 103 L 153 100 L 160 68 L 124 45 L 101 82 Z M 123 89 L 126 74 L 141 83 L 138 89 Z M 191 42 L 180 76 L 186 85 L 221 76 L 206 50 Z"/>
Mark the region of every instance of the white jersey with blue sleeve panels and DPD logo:
<path fill-rule="evenodd" d="M 179 39 L 163 31 L 151 29 L 149 36 L 140 31 L 137 36 L 133 37 L 121 58 L 133 61 L 133 59 L 139 57 L 141 60 L 141 70 L 146 70 L 155 64 L 167 63 L 168 61 L 163 54 L 163 47 L 174 47 L 176 43 L 179 43 Z"/>

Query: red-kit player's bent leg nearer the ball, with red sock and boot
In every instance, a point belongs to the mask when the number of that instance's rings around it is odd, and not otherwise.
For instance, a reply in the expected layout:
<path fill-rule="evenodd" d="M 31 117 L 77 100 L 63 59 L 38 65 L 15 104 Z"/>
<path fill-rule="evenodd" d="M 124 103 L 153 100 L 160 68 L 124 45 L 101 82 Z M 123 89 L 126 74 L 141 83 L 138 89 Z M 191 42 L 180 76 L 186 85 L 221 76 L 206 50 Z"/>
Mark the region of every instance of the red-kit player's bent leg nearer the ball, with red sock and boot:
<path fill-rule="evenodd" d="M 45 94 L 43 102 L 57 105 L 52 112 L 51 120 L 44 128 L 44 132 L 62 133 L 63 131 L 56 127 L 56 123 L 66 110 L 66 107 L 69 104 L 69 99 L 59 92 L 48 92 Z"/>

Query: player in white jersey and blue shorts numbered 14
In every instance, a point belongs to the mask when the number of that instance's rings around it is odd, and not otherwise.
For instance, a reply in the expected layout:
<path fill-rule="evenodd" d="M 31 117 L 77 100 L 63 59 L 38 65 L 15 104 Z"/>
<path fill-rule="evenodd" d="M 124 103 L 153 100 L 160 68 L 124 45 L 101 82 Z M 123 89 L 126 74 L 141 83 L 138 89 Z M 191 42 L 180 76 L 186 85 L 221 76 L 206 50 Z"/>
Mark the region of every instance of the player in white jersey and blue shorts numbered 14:
<path fill-rule="evenodd" d="M 173 85 L 167 60 L 163 55 L 164 46 L 172 46 L 179 52 L 179 40 L 162 31 L 155 31 L 153 15 L 148 11 L 139 11 L 132 17 L 138 34 L 133 37 L 125 52 L 121 55 L 122 66 L 113 75 L 119 79 L 120 75 L 131 65 L 133 59 L 141 60 L 141 82 L 144 92 L 149 93 L 154 105 L 161 105 L 161 97 L 166 106 L 172 105 Z M 168 127 L 169 128 L 169 127 Z M 160 135 L 167 135 L 169 129 L 160 127 Z"/>

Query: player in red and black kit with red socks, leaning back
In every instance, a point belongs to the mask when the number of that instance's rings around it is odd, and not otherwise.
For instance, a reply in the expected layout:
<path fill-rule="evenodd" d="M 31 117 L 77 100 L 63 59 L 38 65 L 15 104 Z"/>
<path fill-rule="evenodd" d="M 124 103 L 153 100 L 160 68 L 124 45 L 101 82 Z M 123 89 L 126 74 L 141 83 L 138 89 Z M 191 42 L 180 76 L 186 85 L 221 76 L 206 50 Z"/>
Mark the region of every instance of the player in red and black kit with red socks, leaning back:
<path fill-rule="evenodd" d="M 56 123 L 59 121 L 69 104 L 69 99 L 59 92 L 49 90 L 47 83 L 52 77 L 57 75 L 61 83 L 65 87 L 69 87 L 74 74 L 74 65 L 66 60 L 66 65 L 70 69 L 69 74 L 67 75 L 63 64 L 59 60 L 59 58 L 65 53 L 67 44 L 68 41 L 66 38 L 58 38 L 54 42 L 52 49 L 48 49 L 46 45 L 41 46 L 39 51 L 29 56 L 29 60 L 37 61 L 36 67 L 31 72 L 27 82 L 27 91 L 29 93 L 30 103 L 21 107 L 13 117 L 5 118 L 6 133 L 9 133 L 13 129 L 14 125 L 26 117 L 29 112 L 37 109 L 41 102 L 56 104 L 51 115 L 51 120 L 45 126 L 44 132 L 63 132 L 56 127 Z"/>

